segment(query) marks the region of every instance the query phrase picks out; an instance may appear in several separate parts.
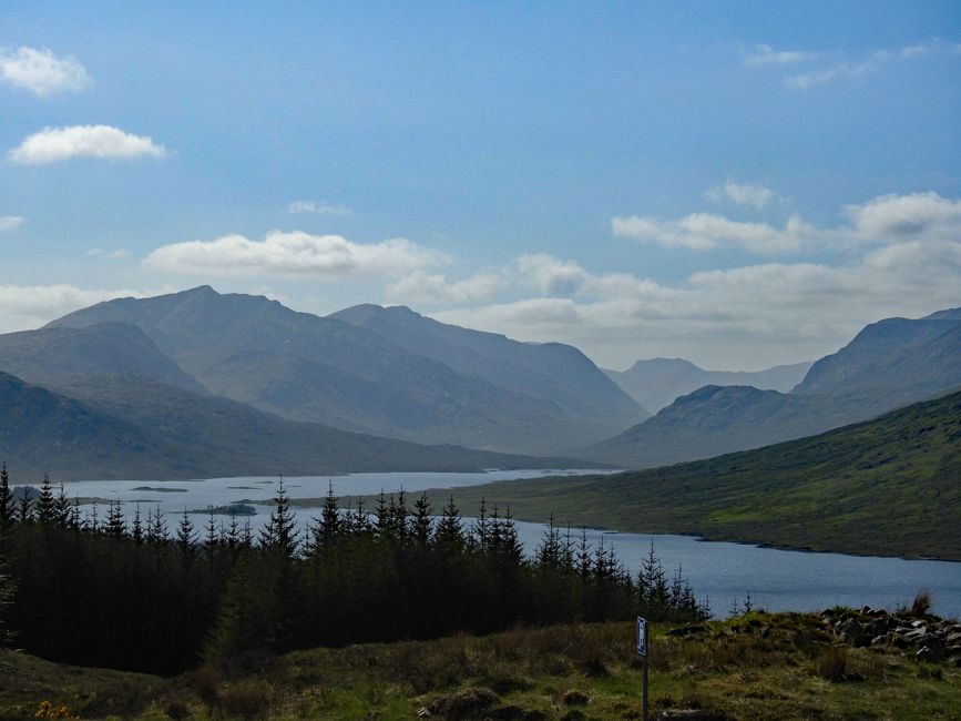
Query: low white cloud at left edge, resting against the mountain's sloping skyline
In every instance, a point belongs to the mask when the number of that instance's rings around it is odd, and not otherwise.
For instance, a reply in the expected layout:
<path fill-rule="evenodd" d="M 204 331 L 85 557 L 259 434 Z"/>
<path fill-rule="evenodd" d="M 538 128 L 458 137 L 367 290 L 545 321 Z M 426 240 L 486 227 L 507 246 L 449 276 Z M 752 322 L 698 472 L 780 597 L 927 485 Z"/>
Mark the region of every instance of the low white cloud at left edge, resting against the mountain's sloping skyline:
<path fill-rule="evenodd" d="M 78 308 L 111 298 L 144 294 L 130 290 L 74 285 L 0 285 L 0 333 L 35 328 Z"/>

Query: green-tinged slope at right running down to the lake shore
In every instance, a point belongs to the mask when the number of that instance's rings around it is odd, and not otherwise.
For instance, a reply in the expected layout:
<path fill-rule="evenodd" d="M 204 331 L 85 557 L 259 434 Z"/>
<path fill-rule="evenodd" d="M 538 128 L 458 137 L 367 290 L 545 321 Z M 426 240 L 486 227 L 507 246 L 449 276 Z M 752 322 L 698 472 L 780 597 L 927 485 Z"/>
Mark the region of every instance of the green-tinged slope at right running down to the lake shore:
<path fill-rule="evenodd" d="M 847 554 L 961 560 L 961 393 L 709 460 L 459 489 L 514 517 Z M 449 491 L 437 491 L 441 500 Z"/>

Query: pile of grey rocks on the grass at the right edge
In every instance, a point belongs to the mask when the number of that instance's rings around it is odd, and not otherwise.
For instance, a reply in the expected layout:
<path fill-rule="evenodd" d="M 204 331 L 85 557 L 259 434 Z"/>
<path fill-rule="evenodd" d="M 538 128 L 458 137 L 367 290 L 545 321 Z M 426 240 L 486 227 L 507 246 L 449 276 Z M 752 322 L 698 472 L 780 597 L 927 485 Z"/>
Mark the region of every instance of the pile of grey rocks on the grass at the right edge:
<path fill-rule="evenodd" d="M 912 653 L 919 661 L 961 668 L 961 623 L 932 616 L 912 618 L 866 606 L 860 611 L 829 609 L 821 613 L 838 640 L 856 648 L 886 646 Z"/>

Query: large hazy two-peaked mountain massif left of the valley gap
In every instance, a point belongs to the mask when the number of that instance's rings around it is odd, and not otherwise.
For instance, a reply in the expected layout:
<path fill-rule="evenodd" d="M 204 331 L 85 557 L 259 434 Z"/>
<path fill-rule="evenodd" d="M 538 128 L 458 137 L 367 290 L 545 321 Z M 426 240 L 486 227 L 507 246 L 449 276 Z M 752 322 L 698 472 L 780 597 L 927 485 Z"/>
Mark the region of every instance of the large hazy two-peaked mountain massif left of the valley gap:
<path fill-rule="evenodd" d="M 376 319 L 361 311 L 319 317 L 203 286 L 100 303 L 41 333 L 123 323 L 212 394 L 418 443 L 551 454 L 648 415 L 571 346 L 444 326 L 407 308 L 380 308 Z"/>

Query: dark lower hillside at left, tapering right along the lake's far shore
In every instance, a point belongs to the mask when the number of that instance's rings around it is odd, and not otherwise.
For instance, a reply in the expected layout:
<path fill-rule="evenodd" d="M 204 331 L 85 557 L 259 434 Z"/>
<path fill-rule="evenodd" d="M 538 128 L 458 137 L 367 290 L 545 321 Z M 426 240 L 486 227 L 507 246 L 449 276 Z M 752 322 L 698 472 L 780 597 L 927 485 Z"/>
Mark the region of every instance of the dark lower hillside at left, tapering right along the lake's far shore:
<path fill-rule="evenodd" d="M 0 459 L 17 481 L 196 478 L 350 471 L 563 467 L 422 446 L 277 418 L 243 404 L 133 377 L 89 377 L 74 397 L 0 374 Z"/>

